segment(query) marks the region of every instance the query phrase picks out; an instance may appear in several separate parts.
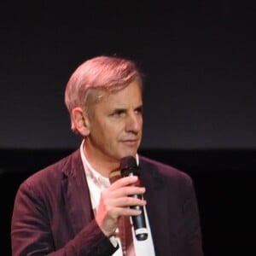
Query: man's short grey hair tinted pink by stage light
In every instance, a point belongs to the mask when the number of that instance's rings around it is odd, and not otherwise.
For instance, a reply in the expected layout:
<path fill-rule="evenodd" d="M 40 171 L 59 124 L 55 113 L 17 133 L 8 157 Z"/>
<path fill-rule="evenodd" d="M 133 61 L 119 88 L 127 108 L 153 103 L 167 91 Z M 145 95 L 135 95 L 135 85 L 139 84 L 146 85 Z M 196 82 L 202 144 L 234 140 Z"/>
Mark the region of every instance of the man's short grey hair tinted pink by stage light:
<path fill-rule="evenodd" d="M 71 75 L 65 90 L 65 103 L 72 120 L 73 108 L 84 108 L 90 90 L 102 89 L 117 92 L 136 80 L 143 87 L 143 75 L 135 61 L 116 56 L 97 56 L 84 61 Z"/>

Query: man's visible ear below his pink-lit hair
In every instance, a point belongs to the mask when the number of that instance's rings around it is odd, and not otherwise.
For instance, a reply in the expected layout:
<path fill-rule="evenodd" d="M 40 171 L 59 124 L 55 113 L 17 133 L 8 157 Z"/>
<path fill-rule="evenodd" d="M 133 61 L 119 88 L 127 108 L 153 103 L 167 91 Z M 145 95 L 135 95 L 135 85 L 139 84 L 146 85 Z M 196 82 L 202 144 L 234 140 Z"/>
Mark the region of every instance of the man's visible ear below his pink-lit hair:
<path fill-rule="evenodd" d="M 75 126 L 76 130 L 79 131 L 81 136 L 86 137 L 90 134 L 88 119 L 86 115 L 84 115 L 82 108 L 73 108 L 72 119 L 73 125 Z"/>

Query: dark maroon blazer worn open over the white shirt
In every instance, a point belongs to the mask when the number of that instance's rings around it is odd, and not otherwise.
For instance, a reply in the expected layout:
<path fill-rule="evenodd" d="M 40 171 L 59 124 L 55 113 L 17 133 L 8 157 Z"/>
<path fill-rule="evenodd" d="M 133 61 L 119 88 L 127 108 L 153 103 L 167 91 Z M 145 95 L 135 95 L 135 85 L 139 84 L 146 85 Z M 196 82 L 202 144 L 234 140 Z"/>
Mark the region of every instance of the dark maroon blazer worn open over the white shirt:
<path fill-rule="evenodd" d="M 203 255 L 191 178 L 142 156 L 139 161 L 156 255 Z M 114 253 L 96 224 L 79 149 L 20 184 L 11 242 L 13 256 Z"/>

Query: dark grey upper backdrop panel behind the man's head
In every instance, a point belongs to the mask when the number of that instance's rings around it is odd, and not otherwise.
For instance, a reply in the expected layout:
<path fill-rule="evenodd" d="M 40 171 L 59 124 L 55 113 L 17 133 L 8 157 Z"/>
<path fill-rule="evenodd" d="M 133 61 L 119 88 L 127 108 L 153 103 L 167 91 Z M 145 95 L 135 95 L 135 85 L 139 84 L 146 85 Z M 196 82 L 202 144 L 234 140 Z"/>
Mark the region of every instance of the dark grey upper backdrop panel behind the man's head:
<path fill-rule="evenodd" d="M 0 148 L 77 147 L 63 92 L 95 55 L 134 59 L 145 74 L 142 148 L 255 148 L 247 2 L 1 3 Z"/>

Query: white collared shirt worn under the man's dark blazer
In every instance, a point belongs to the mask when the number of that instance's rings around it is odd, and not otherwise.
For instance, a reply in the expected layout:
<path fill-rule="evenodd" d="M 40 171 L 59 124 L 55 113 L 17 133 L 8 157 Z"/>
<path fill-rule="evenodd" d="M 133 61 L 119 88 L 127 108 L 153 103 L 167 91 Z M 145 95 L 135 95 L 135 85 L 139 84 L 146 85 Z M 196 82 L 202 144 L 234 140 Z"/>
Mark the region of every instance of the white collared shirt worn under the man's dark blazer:
<path fill-rule="evenodd" d="M 85 157 L 83 148 L 84 148 L 84 141 L 81 143 L 81 146 L 80 146 L 80 154 L 81 154 L 81 158 L 84 165 L 86 181 L 90 191 L 91 205 L 94 212 L 96 212 L 99 206 L 102 190 L 108 189 L 108 187 L 110 186 L 110 181 L 108 177 L 103 177 L 99 172 L 96 172 L 96 170 L 94 170 L 92 166 L 90 166 L 90 163 Z M 138 164 L 138 155 L 136 155 L 136 160 Z M 153 244 L 151 230 L 148 222 L 148 214 L 147 214 L 146 207 L 144 207 L 144 212 L 145 212 L 145 218 L 146 218 L 146 224 L 147 224 L 147 230 L 148 230 L 148 239 L 144 241 L 137 241 L 134 234 L 134 230 L 132 229 L 133 249 L 131 250 L 131 253 L 128 254 L 128 256 L 134 256 L 134 255 L 154 256 L 154 244 Z M 115 253 L 113 253 L 113 256 L 123 256 L 122 247 L 120 245 L 119 238 L 115 237 L 114 239 L 112 237 L 110 241 L 113 243 L 113 245 L 114 244 L 117 245 L 117 242 L 119 243 L 119 249 Z"/>

